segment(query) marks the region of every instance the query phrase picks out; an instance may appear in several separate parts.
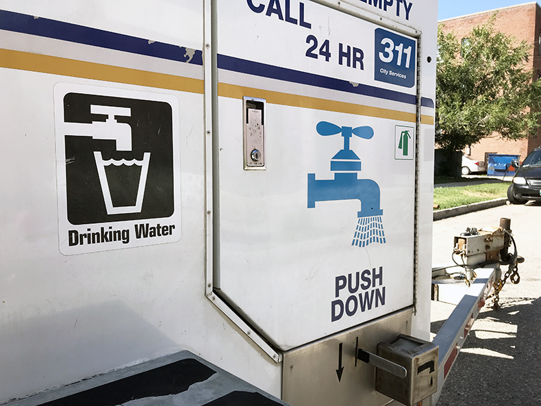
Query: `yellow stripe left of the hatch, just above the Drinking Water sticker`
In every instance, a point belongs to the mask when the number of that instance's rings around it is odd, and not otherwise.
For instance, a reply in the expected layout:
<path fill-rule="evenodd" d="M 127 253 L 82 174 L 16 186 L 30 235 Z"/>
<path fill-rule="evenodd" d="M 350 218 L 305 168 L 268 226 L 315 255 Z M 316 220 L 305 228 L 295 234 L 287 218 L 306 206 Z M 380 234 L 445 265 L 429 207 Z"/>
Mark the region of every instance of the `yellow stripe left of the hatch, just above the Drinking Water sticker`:
<path fill-rule="evenodd" d="M 10 49 L 0 49 L 0 67 L 51 73 L 53 75 L 82 77 L 84 79 L 114 81 L 123 84 L 149 86 L 151 88 L 180 90 L 182 92 L 203 94 L 204 90 L 202 79 L 139 71 L 138 69 L 12 51 Z"/>

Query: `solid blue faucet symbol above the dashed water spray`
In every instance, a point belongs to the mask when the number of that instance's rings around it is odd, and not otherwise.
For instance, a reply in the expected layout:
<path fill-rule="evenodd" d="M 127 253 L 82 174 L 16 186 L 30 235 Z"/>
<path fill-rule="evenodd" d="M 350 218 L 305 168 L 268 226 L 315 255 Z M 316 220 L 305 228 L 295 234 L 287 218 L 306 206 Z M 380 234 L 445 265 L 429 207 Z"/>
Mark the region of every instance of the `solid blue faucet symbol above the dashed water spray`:
<path fill-rule="evenodd" d="M 342 133 L 344 148 L 331 158 L 334 179 L 316 180 L 315 173 L 308 174 L 308 208 L 316 207 L 316 201 L 357 199 L 361 203 L 357 217 L 381 216 L 383 210 L 380 208 L 379 186 L 372 179 L 357 179 L 357 172 L 361 170 L 361 160 L 349 148 L 351 136 L 370 140 L 374 136 L 374 130 L 371 127 L 339 127 L 327 121 L 320 121 L 316 125 L 316 131 L 321 136 Z"/>

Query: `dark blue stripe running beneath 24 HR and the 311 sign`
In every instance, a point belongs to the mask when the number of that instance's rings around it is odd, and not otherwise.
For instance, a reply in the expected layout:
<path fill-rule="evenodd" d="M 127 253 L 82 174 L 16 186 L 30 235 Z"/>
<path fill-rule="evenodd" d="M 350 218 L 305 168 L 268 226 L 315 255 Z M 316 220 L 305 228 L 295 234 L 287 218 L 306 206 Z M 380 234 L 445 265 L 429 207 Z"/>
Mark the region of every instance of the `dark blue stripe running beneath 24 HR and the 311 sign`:
<path fill-rule="evenodd" d="M 382 89 L 364 84 L 358 84 L 357 86 L 353 86 L 349 81 L 336 79 L 334 77 L 326 77 L 322 75 L 316 75 L 314 73 L 294 71 L 293 69 L 281 68 L 279 66 L 243 60 L 227 55 L 218 54 L 218 68 L 225 69 L 226 71 L 247 73 L 249 75 L 289 81 L 292 83 L 318 86 L 320 88 L 340 90 L 342 92 L 362 94 L 363 96 L 377 97 L 378 99 L 400 101 L 401 103 L 413 105 L 417 103 L 417 97 L 414 94 L 396 92 L 394 90 Z M 423 97 L 421 99 L 421 105 L 425 105 L 425 107 L 433 107 L 433 101 L 431 101 L 431 99 Z"/>

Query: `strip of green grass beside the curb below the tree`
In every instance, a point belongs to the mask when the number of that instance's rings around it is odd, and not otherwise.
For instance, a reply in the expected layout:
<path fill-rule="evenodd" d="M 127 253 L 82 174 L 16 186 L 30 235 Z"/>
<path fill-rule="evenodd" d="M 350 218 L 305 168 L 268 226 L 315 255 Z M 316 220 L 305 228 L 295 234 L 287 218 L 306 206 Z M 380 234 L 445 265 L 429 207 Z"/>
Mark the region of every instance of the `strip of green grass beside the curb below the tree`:
<path fill-rule="evenodd" d="M 508 187 L 509 182 L 496 182 L 456 188 L 434 188 L 434 205 L 440 205 L 439 210 L 442 210 L 499 199 L 507 196 Z"/>

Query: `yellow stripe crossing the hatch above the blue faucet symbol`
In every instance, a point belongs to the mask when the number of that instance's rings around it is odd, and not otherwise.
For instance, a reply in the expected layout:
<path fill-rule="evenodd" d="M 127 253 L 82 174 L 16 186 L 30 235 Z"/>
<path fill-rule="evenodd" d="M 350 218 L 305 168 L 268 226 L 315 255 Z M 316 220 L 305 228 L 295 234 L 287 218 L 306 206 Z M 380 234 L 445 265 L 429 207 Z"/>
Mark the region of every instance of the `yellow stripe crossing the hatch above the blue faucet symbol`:
<path fill-rule="evenodd" d="M 305 107 L 317 110 L 326 110 L 329 112 L 342 112 L 350 114 L 360 114 L 362 116 L 389 118 L 392 120 L 416 122 L 415 113 L 398 112 L 397 110 L 383 109 L 380 107 L 371 107 L 355 103 L 344 103 L 343 101 L 334 101 L 327 99 L 318 99 L 316 97 L 299 96 L 298 94 L 289 94 L 274 92 L 272 90 L 262 90 L 254 88 L 245 88 L 225 83 L 218 83 L 218 96 L 232 97 L 242 99 L 243 96 L 259 97 L 266 99 L 268 103 L 290 105 L 293 107 Z M 421 123 L 433 124 L 433 117 L 421 116 Z"/>

